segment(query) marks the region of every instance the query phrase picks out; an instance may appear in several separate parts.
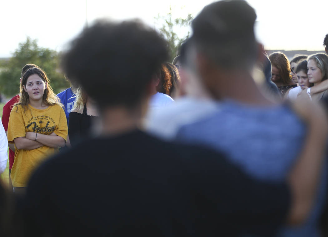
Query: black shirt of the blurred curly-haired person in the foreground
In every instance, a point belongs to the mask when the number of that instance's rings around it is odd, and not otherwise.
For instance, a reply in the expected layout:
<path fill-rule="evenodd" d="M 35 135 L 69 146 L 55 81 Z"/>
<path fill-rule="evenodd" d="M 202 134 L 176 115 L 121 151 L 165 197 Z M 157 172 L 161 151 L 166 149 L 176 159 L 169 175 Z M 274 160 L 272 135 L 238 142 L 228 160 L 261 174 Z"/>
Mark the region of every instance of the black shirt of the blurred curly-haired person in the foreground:
<path fill-rule="evenodd" d="M 285 184 L 252 180 L 222 154 L 133 131 L 45 162 L 25 216 L 30 236 L 263 236 L 289 199 Z"/>

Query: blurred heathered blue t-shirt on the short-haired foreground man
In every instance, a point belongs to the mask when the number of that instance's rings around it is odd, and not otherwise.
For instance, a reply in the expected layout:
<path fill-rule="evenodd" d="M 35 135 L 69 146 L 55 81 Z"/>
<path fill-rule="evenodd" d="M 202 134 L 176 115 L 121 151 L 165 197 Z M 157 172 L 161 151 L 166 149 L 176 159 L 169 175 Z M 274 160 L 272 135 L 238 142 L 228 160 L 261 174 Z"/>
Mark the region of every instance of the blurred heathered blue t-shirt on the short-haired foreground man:
<path fill-rule="evenodd" d="M 180 127 L 176 135 L 180 142 L 202 144 L 226 153 L 249 175 L 273 182 L 286 178 L 302 150 L 304 137 L 305 125 L 287 105 L 252 107 L 230 100 L 220 103 L 208 117 Z M 324 168 L 317 200 L 306 223 L 284 227 L 278 236 L 319 236 L 327 164 Z"/>

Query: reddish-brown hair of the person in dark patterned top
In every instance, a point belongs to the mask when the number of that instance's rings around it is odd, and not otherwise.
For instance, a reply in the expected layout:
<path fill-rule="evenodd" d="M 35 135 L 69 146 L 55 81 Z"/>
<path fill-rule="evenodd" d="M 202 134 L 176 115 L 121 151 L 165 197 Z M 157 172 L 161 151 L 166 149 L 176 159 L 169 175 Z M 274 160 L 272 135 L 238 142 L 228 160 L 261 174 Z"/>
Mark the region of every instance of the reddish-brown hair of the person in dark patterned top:
<path fill-rule="evenodd" d="M 289 84 L 292 76 L 290 75 L 290 64 L 287 56 L 283 53 L 277 52 L 270 54 L 269 59 L 271 65 L 278 69 L 279 75 L 281 76 L 281 82 L 284 84 Z"/>

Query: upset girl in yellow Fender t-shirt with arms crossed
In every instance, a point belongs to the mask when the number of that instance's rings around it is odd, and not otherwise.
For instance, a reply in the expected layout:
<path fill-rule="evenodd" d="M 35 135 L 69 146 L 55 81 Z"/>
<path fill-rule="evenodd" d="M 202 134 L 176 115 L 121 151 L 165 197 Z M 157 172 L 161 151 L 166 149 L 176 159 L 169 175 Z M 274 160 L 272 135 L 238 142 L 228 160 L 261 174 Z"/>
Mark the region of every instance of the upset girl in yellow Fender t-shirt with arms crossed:
<path fill-rule="evenodd" d="M 65 112 L 43 70 L 27 70 L 20 92 L 8 124 L 8 142 L 15 144 L 10 174 L 15 192 L 24 191 L 34 169 L 65 146 L 68 131 Z"/>

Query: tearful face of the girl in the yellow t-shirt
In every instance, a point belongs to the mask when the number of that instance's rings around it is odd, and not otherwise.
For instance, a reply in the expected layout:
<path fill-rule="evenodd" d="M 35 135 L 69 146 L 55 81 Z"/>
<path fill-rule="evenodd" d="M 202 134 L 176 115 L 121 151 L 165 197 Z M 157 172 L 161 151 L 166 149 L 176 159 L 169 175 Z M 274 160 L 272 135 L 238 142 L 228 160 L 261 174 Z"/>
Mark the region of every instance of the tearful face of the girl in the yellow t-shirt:
<path fill-rule="evenodd" d="M 39 75 L 33 74 L 27 78 L 26 85 L 23 87 L 29 95 L 30 100 L 39 101 L 42 100 L 44 90 L 47 88 L 47 83 L 45 83 Z"/>

